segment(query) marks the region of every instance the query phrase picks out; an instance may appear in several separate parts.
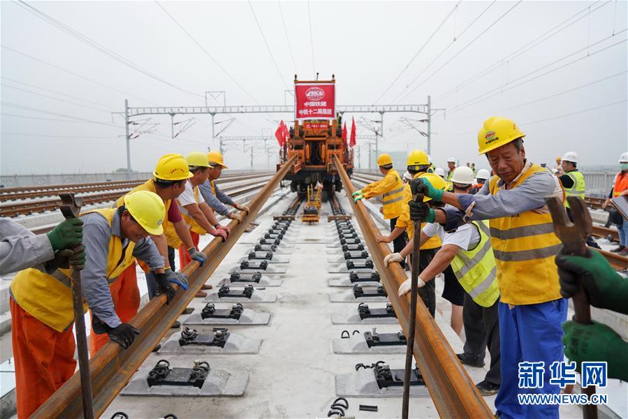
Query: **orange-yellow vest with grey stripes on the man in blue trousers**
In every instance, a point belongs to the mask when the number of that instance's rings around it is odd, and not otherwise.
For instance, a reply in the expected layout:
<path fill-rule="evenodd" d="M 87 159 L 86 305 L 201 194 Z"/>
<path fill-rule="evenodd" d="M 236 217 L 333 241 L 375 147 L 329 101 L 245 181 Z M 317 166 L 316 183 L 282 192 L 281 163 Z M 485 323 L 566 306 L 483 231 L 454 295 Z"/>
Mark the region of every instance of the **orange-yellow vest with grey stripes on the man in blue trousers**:
<path fill-rule="evenodd" d="M 510 185 L 510 189 L 515 189 L 525 179 L 543 170 L 548 169 L 533 164 Z M 490 179 L 489 190 L 492 195 L 502 190 L 497 186 L 498 180 L 497 176 Z M 554 233 L 551 214 L 530 210 L 490 219 L 489 225 L 501 301 L 523 305 L 560 298 L 554 258 L 562 244 Z"/>

